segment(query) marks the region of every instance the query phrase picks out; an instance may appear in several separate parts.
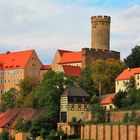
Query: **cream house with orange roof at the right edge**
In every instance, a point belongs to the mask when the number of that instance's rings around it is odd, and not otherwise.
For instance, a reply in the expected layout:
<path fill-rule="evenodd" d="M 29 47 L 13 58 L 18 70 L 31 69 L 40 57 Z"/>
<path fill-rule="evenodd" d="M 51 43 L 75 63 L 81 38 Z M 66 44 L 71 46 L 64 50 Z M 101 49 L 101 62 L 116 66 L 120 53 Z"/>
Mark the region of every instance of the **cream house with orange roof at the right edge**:
<path fill-rule="evenodd" d="M 115 79 L 115 92 L 125 91 L 131 78 L 135 80 L 136 88 L 140 88 L 140 68 L 127 68 Z"/>

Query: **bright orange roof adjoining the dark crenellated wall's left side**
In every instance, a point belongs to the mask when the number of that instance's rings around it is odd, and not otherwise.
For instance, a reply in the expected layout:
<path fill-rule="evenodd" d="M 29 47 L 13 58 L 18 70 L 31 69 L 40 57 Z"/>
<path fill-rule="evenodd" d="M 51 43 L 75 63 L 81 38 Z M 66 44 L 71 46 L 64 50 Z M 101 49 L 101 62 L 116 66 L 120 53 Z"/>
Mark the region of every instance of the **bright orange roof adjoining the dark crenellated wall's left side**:
<path fill-rule="evenodd" d="M 59 64 L 76 63 L 82 61 L 82 52 L 68 52 L 62 55 Z"/>

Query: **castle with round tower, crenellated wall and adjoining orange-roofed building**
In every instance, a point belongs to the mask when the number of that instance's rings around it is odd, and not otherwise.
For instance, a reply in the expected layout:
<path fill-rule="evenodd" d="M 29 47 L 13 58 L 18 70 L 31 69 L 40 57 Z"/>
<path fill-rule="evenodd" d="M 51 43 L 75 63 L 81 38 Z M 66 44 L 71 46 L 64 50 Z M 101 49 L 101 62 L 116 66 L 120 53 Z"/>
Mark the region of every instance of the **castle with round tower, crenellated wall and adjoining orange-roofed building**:
<path fill-rule="evenodd" d="M 110 50 L 110 23 L 109 16 L 91 17 L 91 48 L 82 48 L 79 52 L 58 50 L 51 65 L 52 69 L 65 72 L 63 67 L 69 66 L 68 69 L 77 71 L 78 67 L 84 68 L 97 59 L 120 59 L 119 52 Z"/>

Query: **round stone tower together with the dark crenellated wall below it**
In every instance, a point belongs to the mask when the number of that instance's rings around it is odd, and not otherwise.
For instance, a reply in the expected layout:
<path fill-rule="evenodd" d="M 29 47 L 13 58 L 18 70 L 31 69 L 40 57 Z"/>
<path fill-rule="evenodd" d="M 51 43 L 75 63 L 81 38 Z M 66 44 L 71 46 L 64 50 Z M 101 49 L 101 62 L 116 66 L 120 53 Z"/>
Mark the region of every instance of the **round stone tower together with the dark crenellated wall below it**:
<path fill-rule="evenodd" d="M 82 67 L 92 64 L 97 59 L 120 59 L 120 52 L 110 50 L 109 16 L 91 17 L 91 48 L 82 48 Z"/>

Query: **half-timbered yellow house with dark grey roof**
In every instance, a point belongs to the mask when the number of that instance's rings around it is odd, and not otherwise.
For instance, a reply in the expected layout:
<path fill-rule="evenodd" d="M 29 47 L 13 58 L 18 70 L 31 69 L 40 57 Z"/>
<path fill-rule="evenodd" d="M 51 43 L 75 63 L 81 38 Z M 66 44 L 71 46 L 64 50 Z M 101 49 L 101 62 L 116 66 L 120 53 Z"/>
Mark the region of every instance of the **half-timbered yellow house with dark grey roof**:
<path fill-rule="evenodd" d="M 75 117 L 77 120 L 90 120 L 90 97 L 79 87 L 69 87 L 61 95 L 60 122 L 71 122 Z"/>

